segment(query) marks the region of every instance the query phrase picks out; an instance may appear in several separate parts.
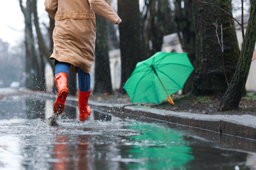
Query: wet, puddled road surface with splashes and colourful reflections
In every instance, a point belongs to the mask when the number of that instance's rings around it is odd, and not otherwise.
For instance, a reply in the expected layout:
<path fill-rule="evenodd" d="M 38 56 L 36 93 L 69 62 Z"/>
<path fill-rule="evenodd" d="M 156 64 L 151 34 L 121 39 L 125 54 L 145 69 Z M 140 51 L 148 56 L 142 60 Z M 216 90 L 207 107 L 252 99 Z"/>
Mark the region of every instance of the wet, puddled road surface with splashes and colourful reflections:
<path fill-rule="evenodd" d="M 67 104 L 49 126 L 53 100 L 0 99 L 0 169 L 255 169 L 255 141 L 93 109 L 79 122 Z M 116 114 L 115 114 L 116 115 Z"/>

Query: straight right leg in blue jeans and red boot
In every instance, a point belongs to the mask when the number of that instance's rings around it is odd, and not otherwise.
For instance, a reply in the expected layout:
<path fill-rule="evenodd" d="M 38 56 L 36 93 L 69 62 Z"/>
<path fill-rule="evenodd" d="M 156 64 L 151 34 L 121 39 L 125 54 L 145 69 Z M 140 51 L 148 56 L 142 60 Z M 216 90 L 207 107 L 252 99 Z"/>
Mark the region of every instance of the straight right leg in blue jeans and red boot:
<path fill-rule="evenodd" d="M 77 67 L 78 72 L 78 109 L 79 120 L 85 121 L 91 114 L 91 107 L 88 106 L 88 99 L 90 97 L 91 77 L 88 73 L 85 73 L 82 69 Z"/>

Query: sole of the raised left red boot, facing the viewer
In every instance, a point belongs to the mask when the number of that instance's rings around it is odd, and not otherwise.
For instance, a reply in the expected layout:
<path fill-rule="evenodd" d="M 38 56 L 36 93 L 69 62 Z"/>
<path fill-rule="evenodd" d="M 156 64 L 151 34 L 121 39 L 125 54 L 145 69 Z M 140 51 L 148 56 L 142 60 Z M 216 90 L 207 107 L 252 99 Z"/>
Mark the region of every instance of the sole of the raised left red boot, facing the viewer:
<path fill-rule="evenodd" d="M 53 106 L 54 113 L 56 113 L 57 115 L 62 114 L 62 112 L 65 109 L 65 101 L 67 97 L 68 97 L 68 91 L 66 90 L 62 90 L 62 92 L 58 94 L 58 97 Z"/>

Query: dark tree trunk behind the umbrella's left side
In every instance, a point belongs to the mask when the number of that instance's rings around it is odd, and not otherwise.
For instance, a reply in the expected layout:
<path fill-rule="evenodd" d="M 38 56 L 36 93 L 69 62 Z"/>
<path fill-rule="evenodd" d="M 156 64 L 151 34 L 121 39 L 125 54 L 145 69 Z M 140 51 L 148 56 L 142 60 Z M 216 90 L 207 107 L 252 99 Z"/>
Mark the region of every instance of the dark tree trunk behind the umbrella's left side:
<path fill-rule="evenodd" d="M 140 36 L 139 0 L 118 0 L 118 14 L 122 19 L 119 24 L 121 50 L 121 86 L 120 93 L 125 93 L 123 86 L 133 73 L 136 64 L 146 59 Z"/>

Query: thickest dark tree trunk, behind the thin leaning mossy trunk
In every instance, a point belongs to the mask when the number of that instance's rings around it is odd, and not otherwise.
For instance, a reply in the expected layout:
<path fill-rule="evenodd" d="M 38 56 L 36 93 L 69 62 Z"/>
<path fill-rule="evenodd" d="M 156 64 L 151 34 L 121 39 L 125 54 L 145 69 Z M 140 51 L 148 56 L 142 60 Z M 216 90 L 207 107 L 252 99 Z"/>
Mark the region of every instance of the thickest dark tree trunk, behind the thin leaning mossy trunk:
<path fill-rule="evenodd" d="M 192 94 L 219 95 L 226 92 L 240 56 L 231 0 L 194 2 L 196 65 Z M 216 33 L 217 32 L 217 33 Z"/>

